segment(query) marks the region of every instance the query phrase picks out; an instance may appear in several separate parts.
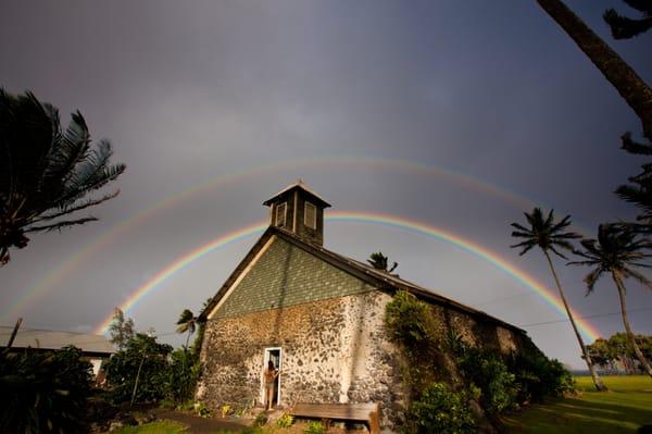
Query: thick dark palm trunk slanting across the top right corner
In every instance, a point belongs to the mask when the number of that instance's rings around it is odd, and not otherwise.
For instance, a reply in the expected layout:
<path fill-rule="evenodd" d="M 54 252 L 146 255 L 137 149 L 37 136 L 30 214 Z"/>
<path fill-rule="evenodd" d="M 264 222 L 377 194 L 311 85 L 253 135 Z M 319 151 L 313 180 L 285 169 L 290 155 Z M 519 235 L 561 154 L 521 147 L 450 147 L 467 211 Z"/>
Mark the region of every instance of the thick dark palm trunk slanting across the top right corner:
<path fill-rule="evenodd" d="M 602 72 L 643 123 L 652 139 L 652 89 L 614 50 L 591 30 L 561 0 L 537 3 L 570 36 L 577 47 Z"/>

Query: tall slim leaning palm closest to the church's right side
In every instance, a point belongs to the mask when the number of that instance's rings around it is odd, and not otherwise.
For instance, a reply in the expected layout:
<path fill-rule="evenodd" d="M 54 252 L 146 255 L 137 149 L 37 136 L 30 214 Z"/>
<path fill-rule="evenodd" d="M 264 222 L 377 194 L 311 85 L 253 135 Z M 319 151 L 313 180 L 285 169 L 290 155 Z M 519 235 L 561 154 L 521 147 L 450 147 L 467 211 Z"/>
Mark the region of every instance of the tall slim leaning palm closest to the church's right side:
<path fill-rule="evenodd" d="M 591 357 L 587 347 L 584 344 L 584 339 L 577 330 L 577 325 L 575 324 L 575 319 L 573 318 L 573 312 L 568 307 L 568 302 L 566 301 L 566 296 L 564 295 L 564 290 L 562 289 L 562 285 L 560 284 L 560 280 L 557 277 L 554 265 L 552 264 L 552 259 L 550 258 L 549 251 L 552 251 L 556 256 L 567 259 L 563 253 L 561 253 L 557 248 L 564 250 L 573 250 L 573 245 L 570 244 L 572 239 L 579 238 L 580 236 L 573 232 L 564 232 L 566 227 L 570 225 L 570 215 L 566 215 L 560 222 L 554 221 L 554 210 L 550 210 L 548 213 L 548 218 L 543 219 L 543 213 L 540 208 L 535 208 L 530 214 L 525 212 L 525 218 L 529 224 L 529 228 L 525 227 L 518 223 L 512 223 L 512 226 L 516 228 L 516 231 L 512 232 L 512 236 L 516 238 L 525 238 L 524 241 L 518 243 L 516 245 L 510 246 L 513 248 L 523 248 L 518 255 L 525 255 L 530 249 L 536 246 L 543 251 L 543 256 L 548 260 L 548 265 L 550 266 L 550 271 L 552 272 L 552 276 L 554 277 L 554 282 L 556 284 L 557 290 L 560 292 L 560 297 L 562 298 L 562 302 L 564 303 L 564 308 L 566 309 L 566 314 L 568 315 L 568 320 L 573 325 L 573 331 L 575 332 L 575 336 L 577 337 L 577 342 L 579 343 L 579 347 L 581 348 L 581 354 L 584 359 L 587 362 L 587 367 L 589 368 L 589 372 L 591 373 L 591 377 L 593 379 L 593 384 L 598 390 L 606 390 L 606 386 L 602 383 L 602 380 L 595 372 L 595 368 L 593 367 L 593 362 L 591 361 Z"/>

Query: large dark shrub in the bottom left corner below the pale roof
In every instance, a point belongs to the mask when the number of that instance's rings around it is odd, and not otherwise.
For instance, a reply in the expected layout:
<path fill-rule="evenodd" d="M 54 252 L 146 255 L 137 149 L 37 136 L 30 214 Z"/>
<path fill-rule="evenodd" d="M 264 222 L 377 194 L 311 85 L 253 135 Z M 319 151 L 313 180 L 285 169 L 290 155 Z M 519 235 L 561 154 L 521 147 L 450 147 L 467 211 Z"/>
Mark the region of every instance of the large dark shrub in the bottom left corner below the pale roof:
<path fill-rule="evenodd" d="M 0 352 L 0 432 L 86 432 L 91 367 L 80 358 L 73 346 Z"/>

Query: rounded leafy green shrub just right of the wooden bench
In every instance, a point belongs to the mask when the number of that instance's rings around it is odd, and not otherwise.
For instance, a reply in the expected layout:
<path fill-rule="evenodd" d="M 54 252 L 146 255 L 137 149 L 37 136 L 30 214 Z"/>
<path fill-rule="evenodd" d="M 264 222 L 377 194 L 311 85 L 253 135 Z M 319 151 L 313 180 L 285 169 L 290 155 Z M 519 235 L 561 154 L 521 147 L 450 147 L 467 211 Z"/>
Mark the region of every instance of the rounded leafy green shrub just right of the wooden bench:
<path fill-rule="evenodd" d="M 412 402 L 406 431 L 412 434 L 472 434 L 475 422 L 466 396 L 449 390 L 443 383 L 432 383 Z"/>

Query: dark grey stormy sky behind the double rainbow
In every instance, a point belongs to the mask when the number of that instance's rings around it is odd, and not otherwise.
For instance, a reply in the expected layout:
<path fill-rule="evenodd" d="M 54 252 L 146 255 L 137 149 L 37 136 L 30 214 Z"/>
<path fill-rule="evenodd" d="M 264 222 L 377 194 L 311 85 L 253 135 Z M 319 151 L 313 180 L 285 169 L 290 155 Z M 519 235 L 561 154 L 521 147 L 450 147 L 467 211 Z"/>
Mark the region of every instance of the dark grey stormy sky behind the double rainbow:
<path fill-rule="evenodd" d="M 650 83 L 652 35 L 616 42 L 601 21 L 606 8 L 625 12 L 624 3 L 568 4 Z M 79 109 L 93 137 L 109 138 L 114 160 L 128 166 L 115 183 L 121 196 L 92 211 L 99 223 L 37 235 L 12 252 L 0 271 L 8 324 L 24 315 L 27 326 L 92 330 L 175 258 L 265 219 L 261 202 L 298 177 L 336 211 L 400 215 L 459 234 L 549 287 L 537 251 L 521 258 L 509 248 L 509 223 L 523 220 L 525 207 L 570 213 L 591 236 L 600 222 L 634 215 L 612 191 L 638 172 L 641 162 L 618 149 L 618 137 L 639 134 L 640 124 L 535 1 L 2 0 L 0 11 L 0 86 L 33 90 L 65 122 Z M 432 174 L 371 159 L 415 162 Z M 180 191 L 241 172 L 116 230 Z M 102 236 L 110 241 L 80 253 Z M 127 314 L 142 330 L 174 331 L 178 313 L 199 310 L 254 239 L 202 258 Z M 402 277 L 517 325 L 563 320 L 446 243 L 327 223 L 325 245 L 358 259 L 380 249 L 400 262 Z M 75 255 L 72 271 L 42 284 Z M 587 270 L 559 265 L 578 312 L 599 314 L 590 321 L 603 335 L 620 331 L 617 315 L 602 315 L 618 310 L 610 282 L 585 298 Z M 629 286 L 632 308 L 652 308 L 652 292 Z M 38 297 L 17 302 L 35 287 Z M 650 318 L 632 311 L 635 330 L 652 333 Z M 546 352 L 580 365 L 567 323 L 526 328 Z"/>

